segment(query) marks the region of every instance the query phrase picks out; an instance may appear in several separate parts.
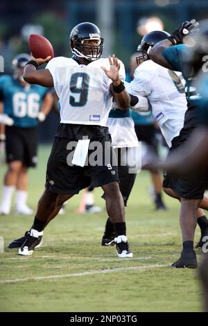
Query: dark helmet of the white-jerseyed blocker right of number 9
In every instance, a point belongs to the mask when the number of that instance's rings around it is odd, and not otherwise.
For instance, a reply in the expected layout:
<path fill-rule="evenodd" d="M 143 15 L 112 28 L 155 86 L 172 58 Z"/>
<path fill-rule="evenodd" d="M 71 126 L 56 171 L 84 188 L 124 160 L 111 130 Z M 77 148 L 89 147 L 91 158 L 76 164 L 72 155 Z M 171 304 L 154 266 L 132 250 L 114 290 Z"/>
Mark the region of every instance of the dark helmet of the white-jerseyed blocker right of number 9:
<path fill-rule="evenodd" d="M 146 33 L 141 40 L 141 44 L 137 47 L 139 55 L 137 56 L 137 65 L 141 65 L 141 62 L 144 62 L 149 59 L 148 52 L 152 47 L 162 40 L 166 40 L 170 36 L 169 33 L 165 31 L 153 31 Z"/>

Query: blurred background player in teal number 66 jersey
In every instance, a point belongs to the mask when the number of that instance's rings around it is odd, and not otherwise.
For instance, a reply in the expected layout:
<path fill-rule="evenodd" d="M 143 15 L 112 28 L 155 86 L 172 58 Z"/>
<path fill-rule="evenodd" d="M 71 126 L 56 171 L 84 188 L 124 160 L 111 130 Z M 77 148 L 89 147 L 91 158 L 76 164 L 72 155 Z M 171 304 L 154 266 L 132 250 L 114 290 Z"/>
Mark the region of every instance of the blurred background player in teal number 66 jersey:
<path fill-rule="evenodd" d="M 0 214 L 8 215 L 12 194 L 16 191 L 16 213 L 29 215 L 33 210 L 26 204 L 28 168 L 37 163 L 37 125 L 51 110 L 53 98 L 49 89 L 30 85 L 23 79 L 24 65 L 30 56 L 17 55 L 12 61 L 13 76 L 0 77 L 1 140 L 6 139 L 6 172 Z"/>

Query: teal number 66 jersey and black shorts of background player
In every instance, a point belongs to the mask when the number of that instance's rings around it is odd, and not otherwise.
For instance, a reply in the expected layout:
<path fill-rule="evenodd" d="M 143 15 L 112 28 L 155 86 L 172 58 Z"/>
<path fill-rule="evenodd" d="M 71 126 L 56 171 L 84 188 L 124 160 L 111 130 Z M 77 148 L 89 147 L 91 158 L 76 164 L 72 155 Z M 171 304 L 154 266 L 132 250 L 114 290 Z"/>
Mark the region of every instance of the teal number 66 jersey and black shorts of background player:
<path fill-rule="evenodd" d="M 21 161 L 35 166 L 37 161 L 37 115 L 48 88 L 40 85 L 21 85 L 12 76 L 0 77 L 0 101 L 3 112 L 13 119 L 6 126 L 7 162 Z"/>

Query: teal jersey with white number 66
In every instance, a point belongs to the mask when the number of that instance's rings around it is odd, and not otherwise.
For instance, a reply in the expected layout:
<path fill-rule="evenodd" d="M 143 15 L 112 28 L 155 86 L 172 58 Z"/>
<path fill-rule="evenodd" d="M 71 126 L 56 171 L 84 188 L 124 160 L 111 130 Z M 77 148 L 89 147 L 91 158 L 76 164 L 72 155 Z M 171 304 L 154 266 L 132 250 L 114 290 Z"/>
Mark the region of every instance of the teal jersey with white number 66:
<path fill-rule="evenodd" d="M 0 77 L 0 99 L 3 112 L 14 120 L 14 126 L 33 128 L 37 126 L 37 115 L 48 88 L 40 85 L 21 85 L 12 76 Z"/>

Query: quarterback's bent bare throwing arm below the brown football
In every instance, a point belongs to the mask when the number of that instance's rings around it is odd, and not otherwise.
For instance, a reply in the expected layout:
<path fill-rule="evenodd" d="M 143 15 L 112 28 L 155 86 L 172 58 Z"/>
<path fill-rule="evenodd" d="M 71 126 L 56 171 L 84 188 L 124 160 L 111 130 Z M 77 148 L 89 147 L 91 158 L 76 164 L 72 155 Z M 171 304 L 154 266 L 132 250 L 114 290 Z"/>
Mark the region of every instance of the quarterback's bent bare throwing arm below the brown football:
<path fill-rule="evenodd" d="M 49 56 L 45 59 L 41 59 L 41 58 L 36 59 L 32 56 L 31 60 L 35 61 L 37 65 L 40 66 L 43 63 L 48 62 L 50 58 L 51 57 Z M 27 83 L 37 84 L 45 87 L 53 87 L 53 77 L 49 69 L 37 70 L 35 65 L 28 64 L 24 67 L 23 77 Z"/>

